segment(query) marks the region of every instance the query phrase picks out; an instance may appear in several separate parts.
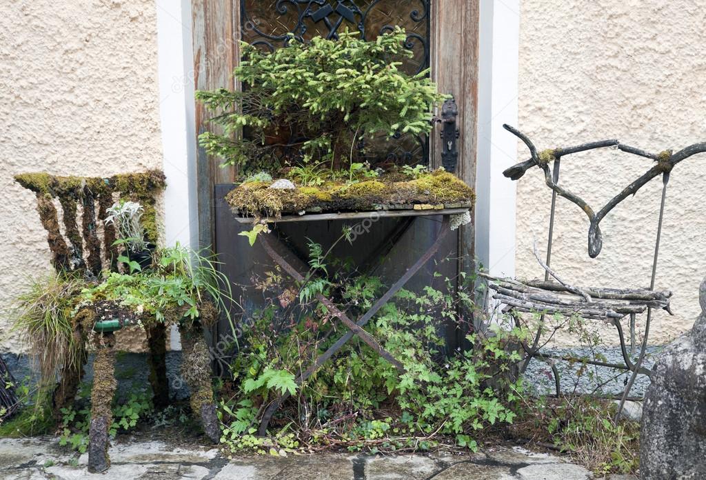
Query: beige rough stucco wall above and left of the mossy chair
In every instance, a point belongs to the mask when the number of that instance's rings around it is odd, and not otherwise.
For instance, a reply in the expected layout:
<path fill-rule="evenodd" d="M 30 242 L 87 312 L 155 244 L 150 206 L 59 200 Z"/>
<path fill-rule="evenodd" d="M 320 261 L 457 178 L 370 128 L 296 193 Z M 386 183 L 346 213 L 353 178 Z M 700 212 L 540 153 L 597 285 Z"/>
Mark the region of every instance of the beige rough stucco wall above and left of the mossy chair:
<path fill-rule="evenodd" d="M 108 176 L 162 167 L 154 0 L 4 0 L 0 6 L 0 352 L 5 308 L 48 272 L 20 172 Z"/>

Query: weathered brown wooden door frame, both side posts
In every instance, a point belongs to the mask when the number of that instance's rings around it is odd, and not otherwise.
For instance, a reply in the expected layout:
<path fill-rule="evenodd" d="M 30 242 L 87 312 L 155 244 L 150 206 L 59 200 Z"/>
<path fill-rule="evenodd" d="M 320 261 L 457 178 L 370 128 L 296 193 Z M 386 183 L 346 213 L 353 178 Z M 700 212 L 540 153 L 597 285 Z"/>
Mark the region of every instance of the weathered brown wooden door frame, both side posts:
<path fill-rule="evenodd" d="M 431 4 L 432 78 L 441 92 L 454 95 L 459 107 L 460 130 L 458 175 L 468 185 L 476 183 L 478 66 L 480 0 L 436 0 Z M 191 0 L 194 85 L 196 90 L 235 88 L 233 68 L 239 58 L 240 0 Z M 196 135 L 208 127 L 209 113 L 196 103 Z M 438 127 L 431 137 L 431 162 L 440 164 Z M 234 181 L 232 167 L 221 168 L 220 160 L 198 147 L 196 185 L 198 239 L 201 247 L 213 245 L 214 188 Z M 465 263 L 474 258 L 472 224 L 459 233 Z M 472 265 L 460 265 L 463 270 Z"/>

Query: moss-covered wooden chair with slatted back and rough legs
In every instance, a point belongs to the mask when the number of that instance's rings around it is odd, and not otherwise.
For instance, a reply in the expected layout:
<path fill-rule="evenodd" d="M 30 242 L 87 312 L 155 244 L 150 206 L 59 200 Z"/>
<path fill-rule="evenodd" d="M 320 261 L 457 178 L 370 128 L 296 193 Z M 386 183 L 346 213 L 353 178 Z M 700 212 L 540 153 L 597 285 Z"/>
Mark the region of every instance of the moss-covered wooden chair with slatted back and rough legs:
<path fill-rule="evenodd" d="M 38 173 L 20 174 L 15 179 L 37 196 L 37 212 L 40 214 L 42 226 L 47 231 L 52 265 L 60 275 L 83 275 L 92 279 L 100 277 L 102 270 L 119 271 L 118 258 L 121 247 L 115 243 L 116 230 L 112 224 L 104 222 L 108 215 L 107 210 L 119 199 L 136 201 L 143 206 L 145 239 L 151 244 L 157 244 L 155 202 L 157 193 L 165 186 L 162 172 L 119 174 L 106 178 Z M 59 224 L 57 204 L 62 210 L 64 233 Z M 77 221 L 79 211 L 80 228 Z M 102 227 L 102 232 L 99 227 Z M 99 238 L 99 235 L 102 238 Z M 201 323 L 208 322 L 210 317 L 215 318 L 215 310 L 204 306 L 201 308 L 213 312 L 213 315 L 202 316 L 201 322 L 193 322 L 188 326 L 180 325 L 182 336 L 186 339 L 184 365 L 187 370 L 184 372 L 184 378 L 193 392 L 192 400 L 198 400 L 198 405 L 192 405 L 194 413 L 201 417 L 208 436 L 217 442 L 219 431 L 215 420 L 213 392 L 210 390 L 210 358 L 201 329 Z M 166 407 L 169 403 L 165 361 L 167 325 L 143 320 L 145 319 L 136 318 L 133 313 L 117 304 L 106 302 L 84 306 L 74 319 L 73 335 L 76 343 L 81 346 L 80 355 L 76 363 L 60 367 L 61 380 L 52 395 L 52 410 L 56 419 L 60 419 L 61 409 L 73 402 L 83 365 L 87 360 L 85 345 L 92 344 L 96 348 L 89 447 L 89 469 L 92 472 L 101 472 L 109 467 L 107 445 L 112 422 L 111 402 L 116 388 L 113 350 L 116 330 L 124 325 L 140 324 L 145 327 L 149 347 L 152 401 L 156 408 Z M 203 352 L 206 352 L 206 355 L 203 355 Z M 208 389 L 203 387 L 203 375 L 191 375 L 195 368 L 199 372 L 207 373 L 205 378 L 209 379 Z"/>

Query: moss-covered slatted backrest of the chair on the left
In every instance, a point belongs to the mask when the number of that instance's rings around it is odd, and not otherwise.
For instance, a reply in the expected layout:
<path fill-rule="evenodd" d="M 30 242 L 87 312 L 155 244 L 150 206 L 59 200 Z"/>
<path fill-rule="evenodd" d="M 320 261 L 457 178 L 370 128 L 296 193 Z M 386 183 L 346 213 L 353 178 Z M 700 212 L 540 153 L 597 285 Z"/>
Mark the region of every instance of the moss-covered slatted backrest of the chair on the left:
<path fill-rule="evenodd" d="M 103 261 L 110 270 L 117 269 L 119 248 L 112 224 L 104 224 L 107 209 L 118 199 L 143 205 L 143 226 L 147 240 L 157 243 L 157 193 L 166 185 L 164 174 L 158 170 L 143 173 L 119 174 L 109 177 L 54 176 L 47 173 L 29 173 L 15 176 L 21 186 L 37 195 L 37 212 L 47 230 L 47 242 L 52 251 L 52 264 L 58 272 L 88 269 L 98 275 Z M 59 227 L 55 200 L 61 205 L 64 234 Z M 81 227 L 77 212 L 81 207 Z M 97 215 L 96 215 L 97 211 Z M 98 226 L 103 227 L 102 246 Z"/>

